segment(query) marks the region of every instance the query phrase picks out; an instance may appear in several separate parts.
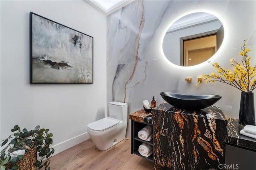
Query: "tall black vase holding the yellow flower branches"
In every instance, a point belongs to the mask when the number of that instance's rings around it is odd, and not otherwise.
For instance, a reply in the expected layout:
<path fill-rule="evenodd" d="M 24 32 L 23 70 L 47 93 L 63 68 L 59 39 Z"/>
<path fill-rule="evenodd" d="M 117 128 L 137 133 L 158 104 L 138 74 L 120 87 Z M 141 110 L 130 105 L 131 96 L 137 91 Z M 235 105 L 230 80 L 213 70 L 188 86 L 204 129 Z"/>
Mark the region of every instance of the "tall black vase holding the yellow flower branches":
<path fill-rule="evenodd" d="M 241 93 L 239 120 L 240 125 L 255 125 L 254 94 Z"/>

